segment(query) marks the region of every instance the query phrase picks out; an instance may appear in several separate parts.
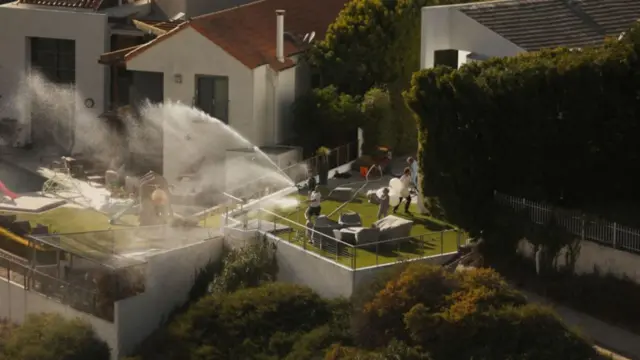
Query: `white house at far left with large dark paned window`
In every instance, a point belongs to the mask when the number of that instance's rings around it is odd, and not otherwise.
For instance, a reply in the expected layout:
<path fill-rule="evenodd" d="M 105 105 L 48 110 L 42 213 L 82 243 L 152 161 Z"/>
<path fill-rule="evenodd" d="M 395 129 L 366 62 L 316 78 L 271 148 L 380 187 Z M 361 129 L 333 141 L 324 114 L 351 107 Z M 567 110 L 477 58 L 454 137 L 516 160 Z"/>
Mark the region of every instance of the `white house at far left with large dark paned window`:
<path fill-rule="evenodd" d="M 251 0 L 0 0 L 0 120 L 20 124 L 14 145 L 42 144 L 55 134 L 73 144 L 74 126 L 51 126 L 57 119 L 11 106 L 25 74 L 36 69 L 78 93 L 68 116 L 99 115 L 129 103 L 132 74 L 113 74 L 96 62 L 104 53 L 145 43 L 153 36 L 132 19 L 177 26 L 182 19 L 245 4 Z M 120 85 L 120 92 L 114 87 Z M 120 97 L 116 95 L 119 94 Z M 51 116 L 49 116 L 51 117 Z M 71 130 L 70 130 L 71 129 Z M 56 130 L 53 130 L 56 131 Z"/>

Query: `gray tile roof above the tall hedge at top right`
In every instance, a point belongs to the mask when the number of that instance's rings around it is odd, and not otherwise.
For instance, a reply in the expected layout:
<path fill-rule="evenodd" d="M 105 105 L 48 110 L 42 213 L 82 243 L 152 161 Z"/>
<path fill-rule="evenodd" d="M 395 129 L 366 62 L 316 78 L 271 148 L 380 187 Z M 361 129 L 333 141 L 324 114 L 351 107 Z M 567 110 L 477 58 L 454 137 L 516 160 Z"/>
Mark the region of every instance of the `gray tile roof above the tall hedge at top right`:
<path fill-rule="evenodd" d="M 501 0 L 457 9 L 528 51 L 598 45 L 640 19 L 640 0 Z"/>

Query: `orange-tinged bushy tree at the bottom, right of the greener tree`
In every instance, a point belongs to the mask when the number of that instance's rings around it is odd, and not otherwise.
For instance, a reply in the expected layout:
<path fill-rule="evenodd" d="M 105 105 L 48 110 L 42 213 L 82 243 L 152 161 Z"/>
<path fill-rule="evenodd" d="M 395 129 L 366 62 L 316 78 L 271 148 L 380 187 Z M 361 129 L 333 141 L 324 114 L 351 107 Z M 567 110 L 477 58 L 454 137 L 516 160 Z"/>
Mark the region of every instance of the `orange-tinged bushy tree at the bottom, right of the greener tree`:
<path fill-rule="evenodd" d="M 448 273 L 438 266 L 409 265 L 374 295 L 361 316 L 369 332 L 356 340 L 371 350 L 399 341 L 433 359 L 595 358 L 593 348 L 554 314 L 526 304 L 490 269 Z"/>

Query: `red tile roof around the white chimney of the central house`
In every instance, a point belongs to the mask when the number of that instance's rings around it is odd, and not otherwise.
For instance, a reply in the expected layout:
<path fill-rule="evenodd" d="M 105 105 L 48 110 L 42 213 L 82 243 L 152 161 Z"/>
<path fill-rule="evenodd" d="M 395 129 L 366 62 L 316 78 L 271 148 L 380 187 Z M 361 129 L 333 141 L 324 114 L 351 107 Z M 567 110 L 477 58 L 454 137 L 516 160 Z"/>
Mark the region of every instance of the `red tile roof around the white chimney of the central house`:
<path fill-rule="evenodd" d="M 291 67 L 293 62 L 287 59 L 283 64 L 276 59 L 275 11 L 286 11 L 285 33 L 302 39 L 305 34 L 315 32 L 315 39 L 320 40 L 347 1 L 261 0 L 202 15 L 130 52 L 125 59 L 131 60 L 149 47 L 191 27 L 251 69 L 269 64 L 275 70 L 282 70 Z M 301 52 L 304 47 L 304 43 L 294 41 L 292 36 L 285 36 L 285 57 Z"/>

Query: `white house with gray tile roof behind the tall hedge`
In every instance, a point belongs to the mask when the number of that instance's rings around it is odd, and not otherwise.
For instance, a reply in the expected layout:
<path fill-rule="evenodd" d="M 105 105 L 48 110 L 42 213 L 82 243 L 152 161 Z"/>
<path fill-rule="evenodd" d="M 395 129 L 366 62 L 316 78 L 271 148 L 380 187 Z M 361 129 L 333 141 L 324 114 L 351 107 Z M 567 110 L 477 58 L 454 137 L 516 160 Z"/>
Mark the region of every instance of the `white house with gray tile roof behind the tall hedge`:
<path fill-rule="evenodd" d="M 637 0 L 498 0 L 422 8 L 422 68 L 458 67 L 618 37 L 640 19 Z"/>

